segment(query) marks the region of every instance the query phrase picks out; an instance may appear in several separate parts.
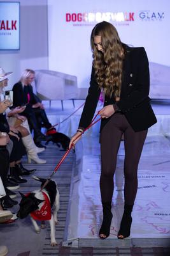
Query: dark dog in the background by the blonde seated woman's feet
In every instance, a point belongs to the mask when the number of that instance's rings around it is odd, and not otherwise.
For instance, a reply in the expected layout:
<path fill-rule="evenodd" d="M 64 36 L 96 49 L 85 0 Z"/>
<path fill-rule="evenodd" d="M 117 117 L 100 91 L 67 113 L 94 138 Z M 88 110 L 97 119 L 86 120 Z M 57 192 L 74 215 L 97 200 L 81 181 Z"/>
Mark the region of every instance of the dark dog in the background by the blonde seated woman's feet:
<path fill-rule="evenodd" d="M 66 136 L 66 134 L 62 133 L 62 132 L 57 132 L 55 130 L 55 128 L 50 129 L 46 132 L 46 135 L 50 135 L 51 138 L 50 140 L 47 140 L 45 145 L 48 145 L 48 143 L 50 141 L 52 141 L 53 143 L 56 143 L 58 147 L 62 147 L 62 150 L 66 151 L 67 148 L 69 148 L 69 142 L 70 142 L 70 138 L 68 136 Z"/>

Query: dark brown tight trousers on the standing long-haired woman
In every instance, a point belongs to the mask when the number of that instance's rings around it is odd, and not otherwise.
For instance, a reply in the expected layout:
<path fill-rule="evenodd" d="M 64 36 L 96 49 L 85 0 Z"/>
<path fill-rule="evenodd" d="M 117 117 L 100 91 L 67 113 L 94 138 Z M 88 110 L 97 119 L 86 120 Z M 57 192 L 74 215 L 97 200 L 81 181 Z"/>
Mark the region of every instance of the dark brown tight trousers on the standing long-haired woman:
<path fill-rule="evenodd" d="M 138 189 L 138 163 L 148 130 L 134 132 L 122 113 L 115 113 L 101 131 L 101 178 L 102 202 L 111 202 L 113 196 L 113 176 L 116 170 L 118 148 L 124 133 L 124 199 L 133 205 Z"/>

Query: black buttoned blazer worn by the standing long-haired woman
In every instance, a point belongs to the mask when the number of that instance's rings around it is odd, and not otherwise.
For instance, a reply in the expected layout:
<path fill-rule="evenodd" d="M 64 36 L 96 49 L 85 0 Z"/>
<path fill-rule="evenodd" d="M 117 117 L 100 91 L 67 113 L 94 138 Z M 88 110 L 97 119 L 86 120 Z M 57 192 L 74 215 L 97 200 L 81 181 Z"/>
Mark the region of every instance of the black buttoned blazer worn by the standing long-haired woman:
<path fill-rule="evenodd" d="M 149 89 L 148 58 L 144 47 L 126 46 L 121 95 L 117 106 L 124 113 L 135 132 L 146 130 L 157 122 L 150 106 Z M 96 82 L 95 70 L 92 67 L 89 93 L 85 100 L 79 127 L 86 128 L 92 121 L 100 93 L 101 90 Z M 113 95 L 111 98 L 105 97 L 104 106 L 114 103 Z M 109 120 L 110 118 L 101 120 L 101 129 Z"/>

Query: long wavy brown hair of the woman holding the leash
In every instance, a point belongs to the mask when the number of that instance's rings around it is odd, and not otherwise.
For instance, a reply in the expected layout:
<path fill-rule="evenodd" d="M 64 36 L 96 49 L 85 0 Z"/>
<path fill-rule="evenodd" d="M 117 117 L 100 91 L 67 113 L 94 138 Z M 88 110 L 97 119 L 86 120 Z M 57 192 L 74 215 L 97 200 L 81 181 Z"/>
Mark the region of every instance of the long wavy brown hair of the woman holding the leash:
<path fill-rule="evenodd" d="M 101 36 L 104 52 L 97 50 L 94 36 Z M 109 22 L 100 22 L 92 30 L 90 41 L 99 87 L 103 88 L 104 93 L 110 97 L 112 94 L 120 97 L 125 49 L 117 29 Z"/>

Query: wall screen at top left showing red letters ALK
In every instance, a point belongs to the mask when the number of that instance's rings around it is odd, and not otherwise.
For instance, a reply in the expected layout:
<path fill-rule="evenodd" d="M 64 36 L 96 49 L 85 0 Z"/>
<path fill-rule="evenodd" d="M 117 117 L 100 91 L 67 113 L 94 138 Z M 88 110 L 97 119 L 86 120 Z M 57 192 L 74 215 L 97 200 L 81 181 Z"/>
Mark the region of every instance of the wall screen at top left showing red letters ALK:
<path fill-rule="evenodd" d="M 20 49 L 20 2 L 0 2 L 0 50 Z"/>

